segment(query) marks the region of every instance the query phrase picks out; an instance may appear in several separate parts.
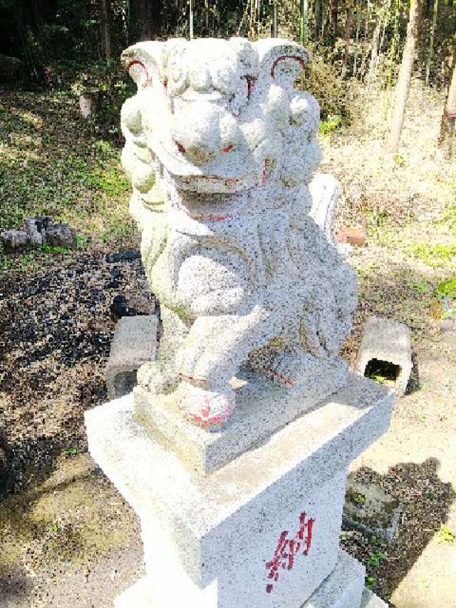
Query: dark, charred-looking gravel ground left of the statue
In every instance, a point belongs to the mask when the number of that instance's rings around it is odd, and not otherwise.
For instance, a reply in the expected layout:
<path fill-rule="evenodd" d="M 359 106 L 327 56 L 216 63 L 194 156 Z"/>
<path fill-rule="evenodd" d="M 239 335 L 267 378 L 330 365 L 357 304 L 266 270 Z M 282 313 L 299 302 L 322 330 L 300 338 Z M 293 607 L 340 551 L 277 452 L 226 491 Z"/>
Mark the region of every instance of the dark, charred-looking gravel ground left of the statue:
<path fill-rule="evenodd" d="M 62 450 L 86 449 L 83 411 L 106 397 L 114 297 L 125 296 L 142 314 L 155 309 L 140 260 L 109 263 L 106 253 L 77 253 L 40 272 L 0 278 L 4 492 L 48 473 Z"/>

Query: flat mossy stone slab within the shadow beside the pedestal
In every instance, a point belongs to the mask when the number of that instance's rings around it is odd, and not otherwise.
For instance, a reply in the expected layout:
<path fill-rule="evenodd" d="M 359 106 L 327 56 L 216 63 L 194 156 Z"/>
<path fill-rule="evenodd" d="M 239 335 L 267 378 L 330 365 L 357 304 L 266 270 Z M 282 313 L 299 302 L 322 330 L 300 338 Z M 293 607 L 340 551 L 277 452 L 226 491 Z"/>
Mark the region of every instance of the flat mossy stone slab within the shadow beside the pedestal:
<path fill-rule="evenodd" d="M 343 519 L 347 527 L 393 542 L 402 505 L 375 483 L 361 483 L 349 478 Z"/>

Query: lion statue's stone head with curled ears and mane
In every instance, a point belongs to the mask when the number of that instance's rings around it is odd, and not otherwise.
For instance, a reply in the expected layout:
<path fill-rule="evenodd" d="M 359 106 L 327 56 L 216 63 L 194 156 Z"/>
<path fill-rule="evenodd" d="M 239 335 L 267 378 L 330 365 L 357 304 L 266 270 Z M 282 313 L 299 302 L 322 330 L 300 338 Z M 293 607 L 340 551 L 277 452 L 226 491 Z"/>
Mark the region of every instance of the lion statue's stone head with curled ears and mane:
<path fill-rule="evenodd" d="M 277 38 L 135 44 L 123 53 L 138 85 L 123 108 L 124 135 L 147 147 L 180 190 L 307 181 L 319 161 L 319 108 L 294 83 L 308 61 L 304 48 Z"/>

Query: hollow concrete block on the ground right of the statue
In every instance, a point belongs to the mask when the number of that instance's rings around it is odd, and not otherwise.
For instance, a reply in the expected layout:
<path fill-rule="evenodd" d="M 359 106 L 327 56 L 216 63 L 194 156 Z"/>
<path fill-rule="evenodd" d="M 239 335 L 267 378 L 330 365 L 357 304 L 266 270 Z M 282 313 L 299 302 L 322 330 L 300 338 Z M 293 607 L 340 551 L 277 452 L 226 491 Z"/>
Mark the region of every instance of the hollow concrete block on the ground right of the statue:
<path fill-rule="evenodd" d="M 387 361 L 398 367 L 396 395 L 402 396 L 412 371 L 410 329 L 403 323 L 371 316 L 366 321 L 364 336 L 356 359 L 355 371 L 364 375 L 369 361 Z"/>

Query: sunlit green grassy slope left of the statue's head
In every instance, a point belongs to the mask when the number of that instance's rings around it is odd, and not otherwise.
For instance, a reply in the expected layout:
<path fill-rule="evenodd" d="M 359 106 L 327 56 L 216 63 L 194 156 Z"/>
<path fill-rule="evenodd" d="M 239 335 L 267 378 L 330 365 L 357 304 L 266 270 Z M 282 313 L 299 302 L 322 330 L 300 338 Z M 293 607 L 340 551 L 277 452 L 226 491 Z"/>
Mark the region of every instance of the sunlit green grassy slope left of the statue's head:
<path fill-rule="evenodd" d="M 0 103 L 0 230 L 52 215 L 85 238 L 131 231 L 120 150 L 95 138 L 73 93 L 6 93 Z M 81 240 L 79 241 L 81 244 Z M 25 263 L 25 262 L 24 262 Z M 5 265 L 6 262 L 3 262 Z M 1 266 L 1 262 L 0 262 Z"/>

